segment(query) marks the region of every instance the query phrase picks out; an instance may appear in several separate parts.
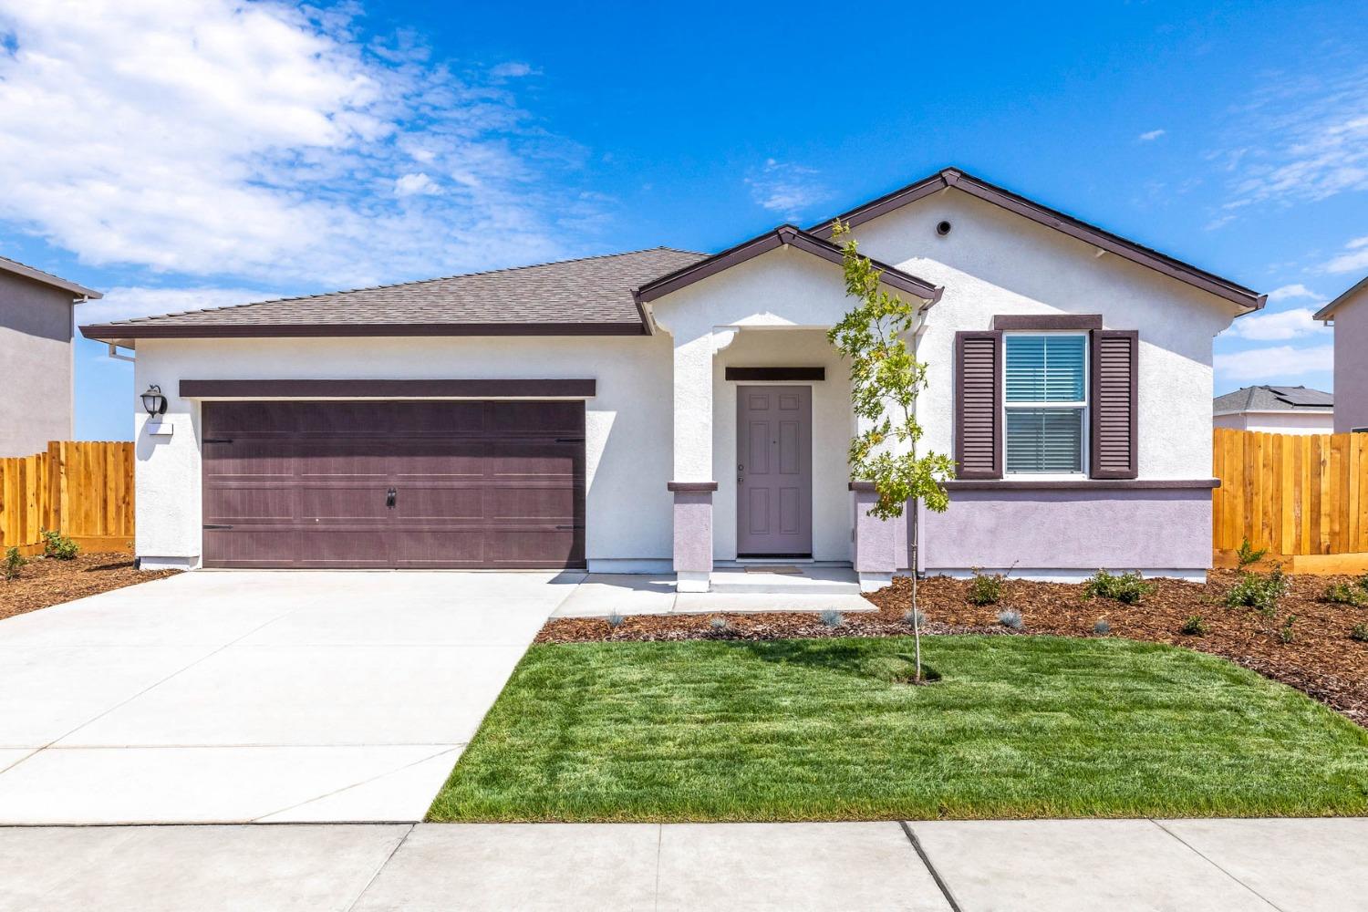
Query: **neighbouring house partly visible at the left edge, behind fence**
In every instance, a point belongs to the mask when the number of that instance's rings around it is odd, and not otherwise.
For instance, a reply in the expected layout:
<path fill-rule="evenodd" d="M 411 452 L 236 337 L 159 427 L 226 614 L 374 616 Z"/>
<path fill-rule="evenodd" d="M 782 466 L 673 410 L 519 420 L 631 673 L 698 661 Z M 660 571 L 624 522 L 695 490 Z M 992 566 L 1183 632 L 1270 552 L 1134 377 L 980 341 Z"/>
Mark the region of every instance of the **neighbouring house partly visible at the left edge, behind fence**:
<path fill-rule="evenodd" d="M 33 455 L 73 432 L 75 304 L 98 291 L 0 257 L 0 457 Z"/>

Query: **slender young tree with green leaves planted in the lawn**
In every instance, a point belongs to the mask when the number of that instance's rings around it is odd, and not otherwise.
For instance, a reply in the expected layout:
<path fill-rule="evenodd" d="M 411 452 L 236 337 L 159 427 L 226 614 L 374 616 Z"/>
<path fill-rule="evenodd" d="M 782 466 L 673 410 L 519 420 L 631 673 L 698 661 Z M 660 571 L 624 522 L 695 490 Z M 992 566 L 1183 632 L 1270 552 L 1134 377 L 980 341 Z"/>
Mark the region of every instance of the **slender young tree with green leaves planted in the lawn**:
<path fill-rule="evenodd" d="M 917 360 L 906 336 L 917 320 L 917 306 L 880 286 L 880 271 L 860 256 L 850 226 L 837 222 L 833 238 L 845 238 L 843 268 L 845 294 L 855 306 L 830 328 L 830 339 L 851 366 L 851 410 L 863 431 L 851 439 L 851 477 L 874 483 L 877 499 L 869 515 L 897 520 L 908 503 L 925 503 L 943 513 L 949 496 L 941 481 L 955 477 L 955 464 L 940 453 L 918 455 L 922 427 L 917 423 L 917 394 L 926 387 L 926 365 Z M 912 637 L 917 644 L 917 681 L 922 680 L 921 613 L 917 610 L 917 567 L 912 567 Z"/>

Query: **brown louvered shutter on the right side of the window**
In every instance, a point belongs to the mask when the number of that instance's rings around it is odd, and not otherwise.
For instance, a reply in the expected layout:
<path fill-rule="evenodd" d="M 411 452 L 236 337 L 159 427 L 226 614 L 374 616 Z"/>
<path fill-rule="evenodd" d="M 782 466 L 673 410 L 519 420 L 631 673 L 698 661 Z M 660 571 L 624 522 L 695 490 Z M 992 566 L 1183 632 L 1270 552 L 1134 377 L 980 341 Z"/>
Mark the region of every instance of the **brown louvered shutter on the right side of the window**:
<path fill-rule="evenodd" d="M 1140 474 L 1138 401 L 1140 334 L 1092 331 L 1092 453 L 1089 476 L 1134 479 Z"/>

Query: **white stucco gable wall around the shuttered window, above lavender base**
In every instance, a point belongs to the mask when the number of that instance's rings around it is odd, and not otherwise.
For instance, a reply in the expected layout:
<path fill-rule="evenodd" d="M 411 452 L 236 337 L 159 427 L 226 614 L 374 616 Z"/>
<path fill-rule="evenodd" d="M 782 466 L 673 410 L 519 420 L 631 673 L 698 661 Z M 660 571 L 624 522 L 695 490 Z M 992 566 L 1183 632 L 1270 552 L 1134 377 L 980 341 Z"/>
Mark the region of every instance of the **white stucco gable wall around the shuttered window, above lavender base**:
<path fill-rule="evenodd" d="M 999 313 L 1100 313 L 1109 330 L 1140 331 L 1140 477 L 1211 477 L 1212 336 L 1234 305 L 953 189 L 855 237 L 866 256 L 945 287 L 918 346 L 929 448 L 953 453 L 956 331 L 990 330 Z"/>

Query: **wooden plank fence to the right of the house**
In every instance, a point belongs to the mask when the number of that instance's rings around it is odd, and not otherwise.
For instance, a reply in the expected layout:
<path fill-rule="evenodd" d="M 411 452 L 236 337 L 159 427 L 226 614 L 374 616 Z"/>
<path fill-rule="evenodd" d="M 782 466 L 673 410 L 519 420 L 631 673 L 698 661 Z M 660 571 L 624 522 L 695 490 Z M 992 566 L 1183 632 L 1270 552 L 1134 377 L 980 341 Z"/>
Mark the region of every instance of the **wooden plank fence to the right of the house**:
<path fill-rule="evenodd" d="M 1246 539 L 1300 570 L 1368 561 L 1368 433 L 1216 428 L 1212 459 L 1218 566 Z"/>

